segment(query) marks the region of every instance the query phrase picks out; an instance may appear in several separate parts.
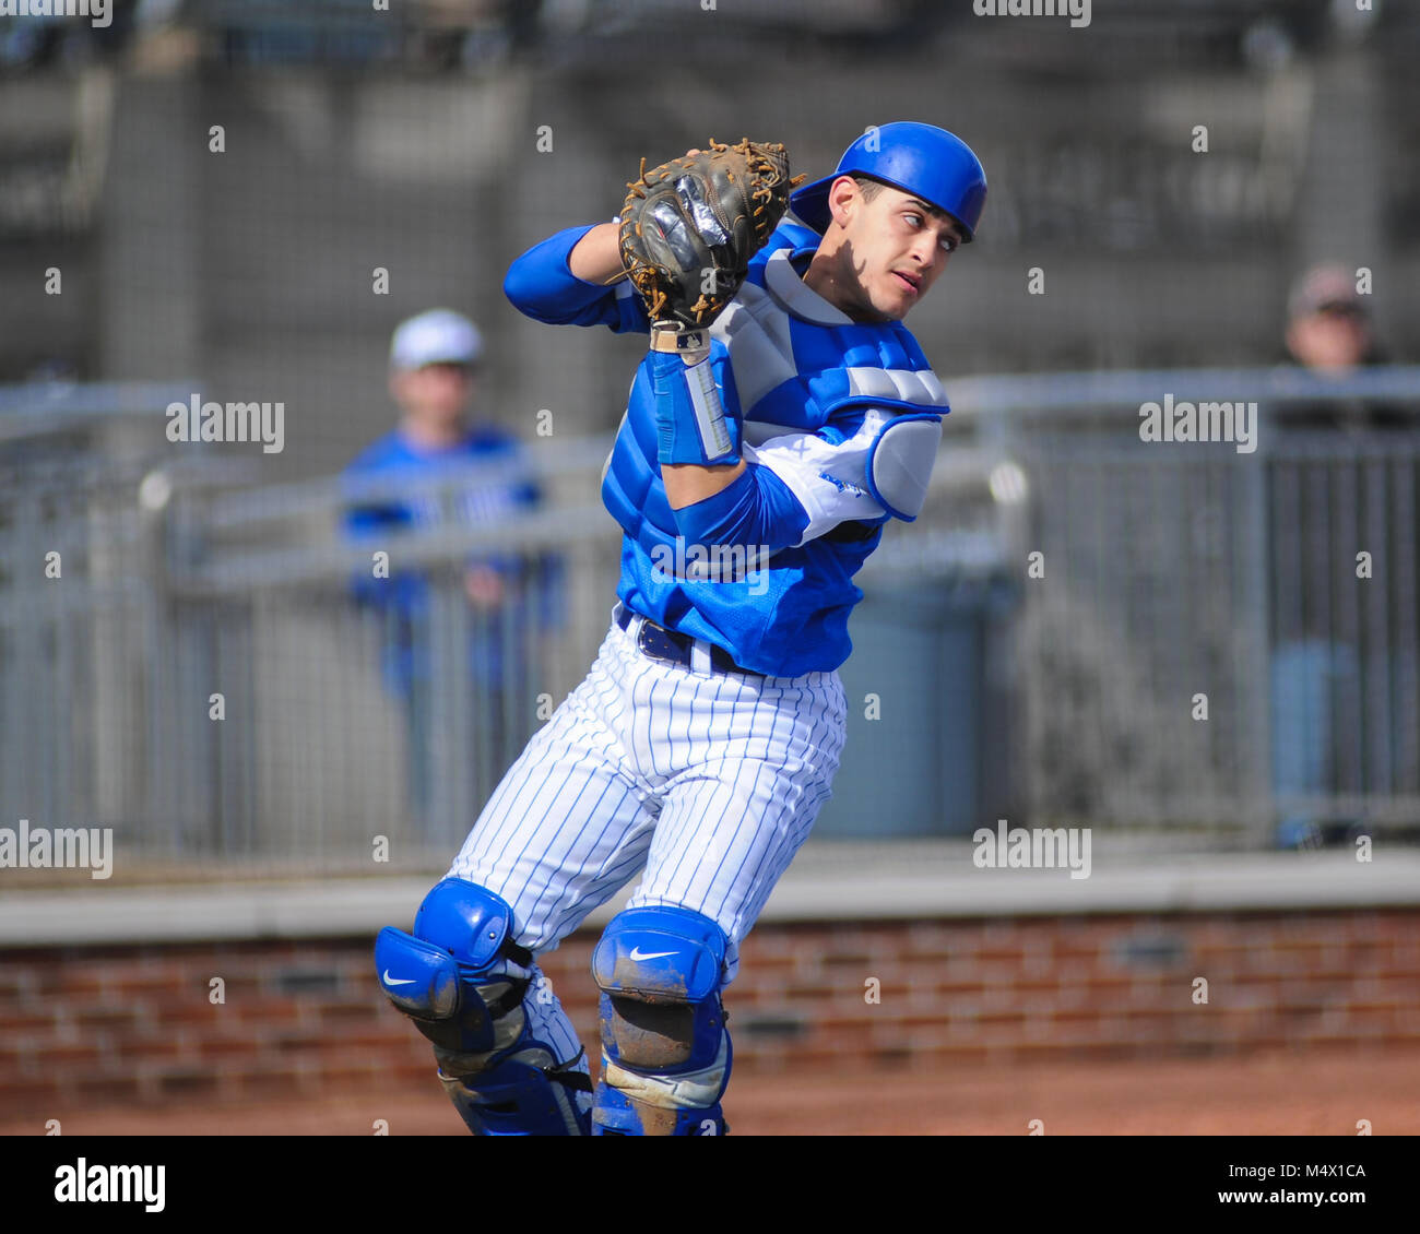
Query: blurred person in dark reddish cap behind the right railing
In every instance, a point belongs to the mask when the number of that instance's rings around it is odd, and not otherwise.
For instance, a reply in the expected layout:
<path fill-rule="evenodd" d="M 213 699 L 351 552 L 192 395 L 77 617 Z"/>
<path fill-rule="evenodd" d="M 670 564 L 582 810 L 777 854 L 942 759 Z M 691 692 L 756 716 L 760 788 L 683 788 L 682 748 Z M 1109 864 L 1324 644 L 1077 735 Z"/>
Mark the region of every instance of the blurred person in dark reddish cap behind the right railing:
<path fill-rule="evenodd" d="M 1387 359 L 1376 339 L 1366 298 L 1356 291 L 1355 274 L 1343 266 L 1325 264 L 1305 271 L 1288 297 L 1287 359 L 1319 376 L 1346 378 Z M 1289 409 L 1272 422 L 1281 432 L 1352 435 L 1376 429 L 1403 429 L 1413 417 L 1402 408 L 1338 395 Z M 1298 464 L 1294 483 L 1305 483 Z M 1279 581 L 1281 582 L 1281 581 Z M 1279 795 L 1328 795 L 1339 791 L 1336 774 L 1338 719 L 1335 700 L 1360 690 L 1360 655 L 1336 638 L 1328 621 L 1331 581 L 1304 577 L 1288 579 L 1285 592 L 1296 604 L 1275 608 L 1272 650 L 1272 787 Z M 1281 819 L 1278 842 L 1284 848 L 1311 846 L 1345 839 L 1356 819 L 1318 818 L 1288 812 Z"/>

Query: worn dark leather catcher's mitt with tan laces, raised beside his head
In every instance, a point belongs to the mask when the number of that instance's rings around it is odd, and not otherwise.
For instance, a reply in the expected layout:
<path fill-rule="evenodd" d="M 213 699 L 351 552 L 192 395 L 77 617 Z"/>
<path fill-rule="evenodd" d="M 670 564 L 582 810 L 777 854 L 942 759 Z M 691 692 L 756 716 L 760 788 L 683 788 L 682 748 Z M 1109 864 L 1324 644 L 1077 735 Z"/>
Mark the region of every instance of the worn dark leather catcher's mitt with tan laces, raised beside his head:
<path fill-rule="evenodd" d="M 744 283 L 790 203 L 790 156 L 778 142 L 710 139 L 707 151 L 646 170 L 626 187 L 621 256 L 653 322 L 707 327 Z"/>

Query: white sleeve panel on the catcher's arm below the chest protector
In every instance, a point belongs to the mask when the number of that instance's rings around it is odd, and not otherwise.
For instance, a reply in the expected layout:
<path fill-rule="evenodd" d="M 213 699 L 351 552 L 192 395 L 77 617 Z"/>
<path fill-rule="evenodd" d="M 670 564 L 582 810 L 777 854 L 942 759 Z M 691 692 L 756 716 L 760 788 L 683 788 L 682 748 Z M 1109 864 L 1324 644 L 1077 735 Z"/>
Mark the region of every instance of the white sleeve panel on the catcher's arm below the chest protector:
<path fill-rule="evenodd" d="M 885 429 L 893 420 L 919 422 L 923 426 L 936 420 L 936 433 L 941 433 L 940 416 L 912 415 L 883 410 L 882 408 L 868 408 L 862 422 L 852 436 L 842 442 L 832 442 L 818 433 L 785 433 L 781 437 L 770 437 L 758 446 L 746 443 L 741 454 L 751 463 L 768 467 L 785 487 L 798 498 L 808 513 L 808 527 L 799 545 L 808 544 L 826 531 L 832 531 L 839 523 L 851 520 L 876 520 L 885 514 L 895 514 L 899 518 L 913 518 L 917 510 L 910 514 L 895 508 L 895 496 L 888 496 L 888 503 L 879 501 L 873 496 L 873 480 L 870 467 L 875 467 L 875 454 L 879 446 L 892 439 L 885 435 Z M 919 442 L 920 444 L 920 442 Z M 926 493 L 926 476 L 930 474 L 936 449 L 923 460 L 926 474 L 922 480 L 923 494 Z M 882 474 L 882 467 L 875 469 Z M 920 467 L 917 469 L 920 470 Z M 878 488 L 879 496 L 886 496 Z M 920 507 L 920 500 L 917 501 Z"/>

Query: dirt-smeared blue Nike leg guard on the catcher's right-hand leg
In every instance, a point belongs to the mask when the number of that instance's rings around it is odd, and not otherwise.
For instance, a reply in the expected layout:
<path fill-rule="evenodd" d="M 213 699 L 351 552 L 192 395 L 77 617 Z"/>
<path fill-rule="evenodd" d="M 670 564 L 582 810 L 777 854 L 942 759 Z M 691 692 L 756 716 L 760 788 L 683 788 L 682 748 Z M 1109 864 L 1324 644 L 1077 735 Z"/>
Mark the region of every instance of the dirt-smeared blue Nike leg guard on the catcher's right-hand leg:
<path fill-rule="evenodd" d="M 592 953 L 602 990 L 592 1135 L 726 1132 L 724 954 L 720 927 L 690 909 L 626 909 L 606 926 Z"/>

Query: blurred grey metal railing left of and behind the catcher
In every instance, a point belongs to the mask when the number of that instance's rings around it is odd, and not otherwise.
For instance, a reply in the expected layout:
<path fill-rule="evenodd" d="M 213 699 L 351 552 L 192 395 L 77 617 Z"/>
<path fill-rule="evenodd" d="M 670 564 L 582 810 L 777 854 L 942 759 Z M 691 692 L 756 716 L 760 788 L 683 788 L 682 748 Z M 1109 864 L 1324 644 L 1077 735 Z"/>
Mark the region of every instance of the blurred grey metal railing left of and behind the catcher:
<path fill-rule="evenodd" d="M 64 430 L 51 436 L 33 395 L 9 399 L 6 814 L 114 826 L 143 869 L 447 861 L 606 633 L 621 551 L 598 497 L 609 440 L 530 447 L 545 496 L 531 513 L 352 538 L 354 506 L 450 506 L 504 473 L 470 464 L 356 488 L 258 484 L 247 463 L 192 450 L 125 463 L 108 449 L 124 439 L 115 426 L 163 403 L 95 393 L 91 416 L 53 415 Z M 998 569 L 980 452 L 944 460 L 937 490 L 957 513 L 932 530 L 927 571 Z M 889 538 L 883 578 L 920 577 L 920 530 Z M 51 550 L 58 578 L 43 574 Z M 491 599 L 470 584 L 487 562 Z"/>

